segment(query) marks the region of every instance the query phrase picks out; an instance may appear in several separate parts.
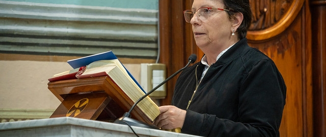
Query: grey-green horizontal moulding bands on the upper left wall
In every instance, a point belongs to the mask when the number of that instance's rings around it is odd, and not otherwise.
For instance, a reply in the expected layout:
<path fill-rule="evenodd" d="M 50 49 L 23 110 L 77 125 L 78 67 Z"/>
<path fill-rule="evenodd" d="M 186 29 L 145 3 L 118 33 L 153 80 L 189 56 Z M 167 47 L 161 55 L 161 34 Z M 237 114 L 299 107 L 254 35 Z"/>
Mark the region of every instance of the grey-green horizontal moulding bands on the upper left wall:
<path fill-rule="evenodd" d="M 157 10 L 0 1 L 0 52 L 157 57 Z"/>

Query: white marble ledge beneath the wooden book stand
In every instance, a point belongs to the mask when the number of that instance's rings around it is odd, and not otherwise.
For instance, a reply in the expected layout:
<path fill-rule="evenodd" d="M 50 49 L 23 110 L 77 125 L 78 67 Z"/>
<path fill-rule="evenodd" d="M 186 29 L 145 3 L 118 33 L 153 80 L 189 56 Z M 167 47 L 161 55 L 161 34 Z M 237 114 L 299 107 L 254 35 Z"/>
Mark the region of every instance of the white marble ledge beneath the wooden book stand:
<path fill-rule="evenodd" d="M 139 136 L 195 136 L 134 127 Z M 127 125 L 60 117 L 0 123 L 0 136 L 135 136 Z"/>

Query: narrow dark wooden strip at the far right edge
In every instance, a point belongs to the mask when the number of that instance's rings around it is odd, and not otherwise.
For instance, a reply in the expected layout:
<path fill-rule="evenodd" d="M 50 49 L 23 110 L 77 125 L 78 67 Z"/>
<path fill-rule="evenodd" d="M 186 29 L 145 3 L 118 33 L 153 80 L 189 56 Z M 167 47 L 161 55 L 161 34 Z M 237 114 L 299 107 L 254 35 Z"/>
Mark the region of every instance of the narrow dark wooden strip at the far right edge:
<path fill-rule="evenodd" d="M 314 136 L 326 136 L 326 1 L 311 1 Z"/>

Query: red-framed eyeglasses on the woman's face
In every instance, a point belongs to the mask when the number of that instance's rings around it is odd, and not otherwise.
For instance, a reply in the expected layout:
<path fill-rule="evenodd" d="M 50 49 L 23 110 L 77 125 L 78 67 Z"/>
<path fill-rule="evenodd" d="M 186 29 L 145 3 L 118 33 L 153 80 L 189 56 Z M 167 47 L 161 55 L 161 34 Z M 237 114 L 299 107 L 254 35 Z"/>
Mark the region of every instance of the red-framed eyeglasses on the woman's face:
<path fill-rule="evenodd" d="M 201 7 L 197 11 L 185 10 L 185 11 L 183 11 L 183 15 L 184 15 L 185 21 L 189 23 L 190 20 L 192 20 L 192 18 L 194 17 L 195 13 L 197 13 L 198 17 L 200 17 L 201 20 L 205 20 L 208 18 L 209 14 L 212 12 L 212 10 L 231 11 L 231 10 L 220 9 L 220 8 Z"/>

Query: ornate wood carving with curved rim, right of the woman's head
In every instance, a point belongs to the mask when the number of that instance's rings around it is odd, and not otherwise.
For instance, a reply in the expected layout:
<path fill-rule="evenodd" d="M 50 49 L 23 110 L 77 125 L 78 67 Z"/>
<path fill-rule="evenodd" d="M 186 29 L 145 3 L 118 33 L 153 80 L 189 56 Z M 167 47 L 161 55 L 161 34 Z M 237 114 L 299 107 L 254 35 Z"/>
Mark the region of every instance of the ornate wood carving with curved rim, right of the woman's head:
<path fill-rule="evenodd" d="M 304 0 L 251 1 L 252 25 L 247 34 L 249 40 L 260 41 L 275 37 L 283 32 L 301 11 Z"/>

